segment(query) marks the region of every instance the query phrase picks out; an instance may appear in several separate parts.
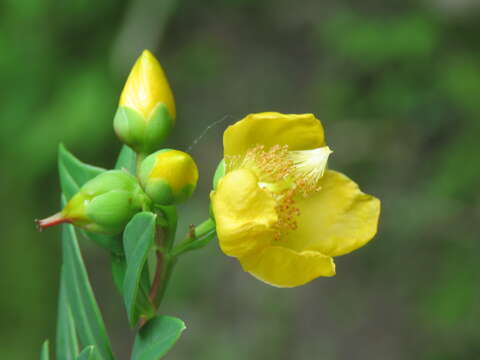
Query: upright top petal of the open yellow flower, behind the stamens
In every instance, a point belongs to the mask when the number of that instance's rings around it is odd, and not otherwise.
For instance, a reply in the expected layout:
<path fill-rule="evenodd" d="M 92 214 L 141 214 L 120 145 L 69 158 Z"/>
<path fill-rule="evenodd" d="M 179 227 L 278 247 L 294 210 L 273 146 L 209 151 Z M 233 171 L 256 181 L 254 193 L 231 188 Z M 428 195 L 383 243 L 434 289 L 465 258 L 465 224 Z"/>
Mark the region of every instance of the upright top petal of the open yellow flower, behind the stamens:
<path fill-rule="evenodd" d="M 243 155 L 255 145 L 288 145 L 310 150 L 325 145 L 323 127 L 313 114 L 250 114 L 229 126 L 223 136 L 226 156 Z"/>

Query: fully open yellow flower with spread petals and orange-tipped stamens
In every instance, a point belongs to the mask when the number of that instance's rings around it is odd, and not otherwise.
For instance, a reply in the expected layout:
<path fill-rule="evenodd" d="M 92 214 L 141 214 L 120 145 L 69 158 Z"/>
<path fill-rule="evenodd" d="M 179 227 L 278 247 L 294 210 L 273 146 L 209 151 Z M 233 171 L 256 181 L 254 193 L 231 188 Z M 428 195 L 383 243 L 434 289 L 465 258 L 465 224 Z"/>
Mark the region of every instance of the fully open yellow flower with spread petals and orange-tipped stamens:
<path fill-rule="evenodd" d="M 377 231 L 380 201 L 326 168 L 312 114 L 251 114 L 224 134 L 225 176 L 211 194 L 222 251 L 278 287 L 335 275 L 334 256 Z"/>

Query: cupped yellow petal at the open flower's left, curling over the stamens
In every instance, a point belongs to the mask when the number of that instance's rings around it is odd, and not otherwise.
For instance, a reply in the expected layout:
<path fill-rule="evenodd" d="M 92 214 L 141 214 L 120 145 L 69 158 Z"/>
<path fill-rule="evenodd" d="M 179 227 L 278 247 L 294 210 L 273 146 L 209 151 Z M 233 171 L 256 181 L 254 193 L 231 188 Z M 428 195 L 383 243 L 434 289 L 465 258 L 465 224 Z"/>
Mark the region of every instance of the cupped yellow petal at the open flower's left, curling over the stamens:
<path fill-rule="evenodd" d="M 250 170 L 235 170 L 220 180 L 211 195 L 220 248 L 229 256 L 257 251 L 274 237 L 275 201 L 257 182 Z"/>

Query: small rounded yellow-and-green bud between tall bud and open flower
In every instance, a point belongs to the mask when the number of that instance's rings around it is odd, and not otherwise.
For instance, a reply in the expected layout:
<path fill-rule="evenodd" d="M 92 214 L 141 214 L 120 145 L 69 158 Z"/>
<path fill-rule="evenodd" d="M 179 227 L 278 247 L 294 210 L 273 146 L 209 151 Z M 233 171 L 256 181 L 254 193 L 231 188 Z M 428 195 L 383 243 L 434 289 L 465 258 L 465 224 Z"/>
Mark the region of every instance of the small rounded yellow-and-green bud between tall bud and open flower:
<path fill-rule="evenodd" d="M 145 193 L 154 204 L 178 204 L 187 200 L 195 191 L 198 168 L 189 154 L 164 149 L 143 160 L 139 178 Z"/>

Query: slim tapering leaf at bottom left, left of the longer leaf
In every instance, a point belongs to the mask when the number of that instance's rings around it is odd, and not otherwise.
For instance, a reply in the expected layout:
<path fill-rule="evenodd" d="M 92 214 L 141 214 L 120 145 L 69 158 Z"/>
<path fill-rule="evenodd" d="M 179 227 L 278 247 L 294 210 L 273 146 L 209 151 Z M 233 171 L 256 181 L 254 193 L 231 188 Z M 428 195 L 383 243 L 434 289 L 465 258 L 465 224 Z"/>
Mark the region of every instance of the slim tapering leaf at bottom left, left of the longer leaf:
<path fill-rule="evenodd" d="M 66 294 L 65 271 L 62 267 L 60 275 L 60 295 L 58 298 L 57 319 L 57 359 L 74 360 L 78 355 L 78 340 L 75 332 L 72 310 Z"/>

